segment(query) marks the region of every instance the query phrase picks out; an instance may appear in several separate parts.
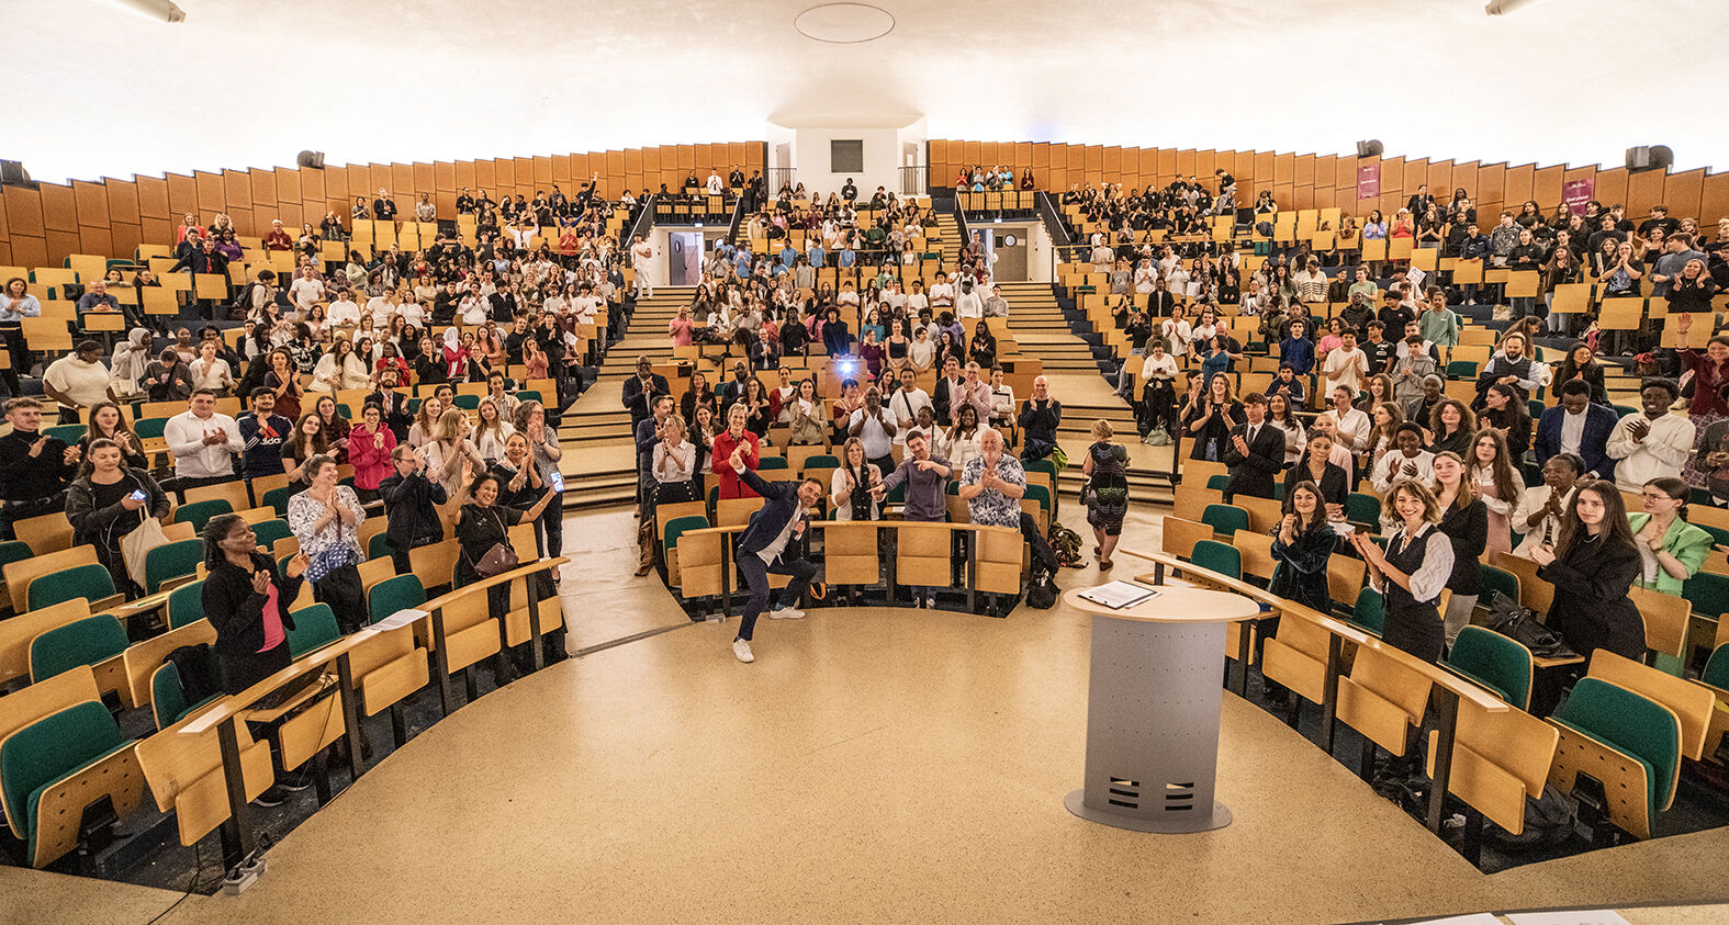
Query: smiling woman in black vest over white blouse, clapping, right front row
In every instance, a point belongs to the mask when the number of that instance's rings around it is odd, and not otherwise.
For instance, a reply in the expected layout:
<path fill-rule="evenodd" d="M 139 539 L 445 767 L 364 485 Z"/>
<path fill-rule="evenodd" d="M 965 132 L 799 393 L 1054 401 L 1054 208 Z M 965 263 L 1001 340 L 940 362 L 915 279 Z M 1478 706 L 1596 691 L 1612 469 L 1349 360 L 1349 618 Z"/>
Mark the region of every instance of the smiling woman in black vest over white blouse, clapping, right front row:
<path fill-rule="evenodd" d="M 1425 662 L 1440 660 L 1445 628 L 1435 607 L 1452 577 L 1452 543 L 1435 526 L 1440 510 L 1426 484 L 1407 479 L 1392 493 L 1399 531 L 1383 553 L 1366 533 L 1350 545 L 1369 565 L 1369 586 L 1381 593 L 1387 624 L 1381 640 Z"/>

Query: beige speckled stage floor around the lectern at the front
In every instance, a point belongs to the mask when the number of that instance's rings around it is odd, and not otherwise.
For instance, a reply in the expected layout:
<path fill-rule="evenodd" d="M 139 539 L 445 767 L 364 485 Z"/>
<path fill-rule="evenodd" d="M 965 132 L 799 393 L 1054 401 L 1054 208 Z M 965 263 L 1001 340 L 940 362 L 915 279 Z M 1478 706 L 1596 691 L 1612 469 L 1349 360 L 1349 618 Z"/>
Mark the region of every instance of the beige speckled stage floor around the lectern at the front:
<path fill-rule="evenodd" d="M 1065 517 L 1067 519 L 1067 517 Z M 567 531 L 576 641 L 676 624 L 621 572 L 629 515 Z M 1129 539 L 1155 545 L 1136 512 Z M 609 552 L 610 550 L 610 552 Z M 1086 572 L 1065 572 L 1065 584 Z M 659 596 L 657 596 L 659 595 Z M 584 626 L 590 624 L 590 626 Z M 1226 697 L 1228 828 L 1081 821 L 1088 622 L 885 609 L 692 624 L 488 693 L 164 922 L 1362 922 L 1722 901 L 1729 832 L 1485 877 L 1276 718 Z M 0 868 L 0 923 L 147 922 L 166 890 Z M 1634 909 L 1636 923 L 1722 922 Z"/>

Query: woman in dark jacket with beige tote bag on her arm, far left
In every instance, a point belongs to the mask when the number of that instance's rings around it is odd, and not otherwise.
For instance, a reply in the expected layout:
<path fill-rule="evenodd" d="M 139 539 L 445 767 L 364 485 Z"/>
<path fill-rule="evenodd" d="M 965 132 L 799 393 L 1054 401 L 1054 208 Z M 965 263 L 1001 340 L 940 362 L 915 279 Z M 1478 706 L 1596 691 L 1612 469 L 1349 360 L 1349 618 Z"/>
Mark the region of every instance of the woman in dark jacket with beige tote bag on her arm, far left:
<path fill-rule="evenodd" d="M 144 469 L 126 465 L 121 446 L 107 437 L 90 441 L 81 475 L 66 491 L 66 519 L 73 545 L 92 545 L 114 588 L 128 598 L 144 593 L 126 569 L 119 541 L 145 517 L 168 517 L 168 496 Z"/>

